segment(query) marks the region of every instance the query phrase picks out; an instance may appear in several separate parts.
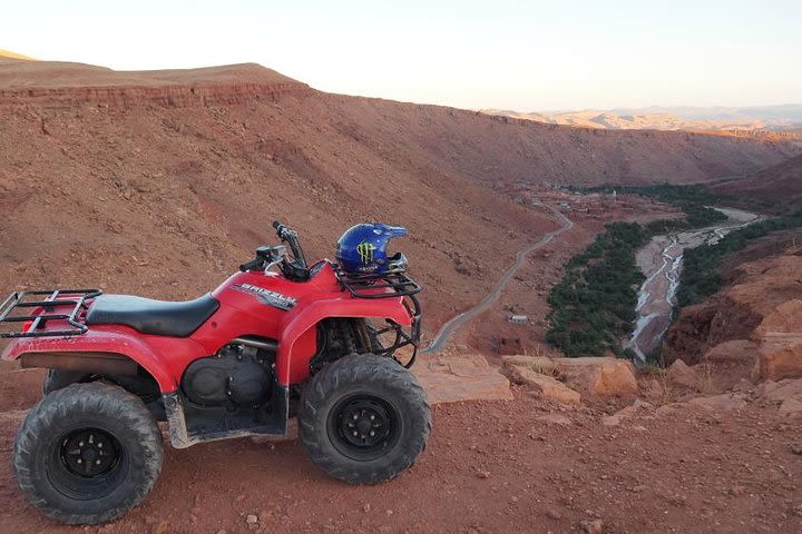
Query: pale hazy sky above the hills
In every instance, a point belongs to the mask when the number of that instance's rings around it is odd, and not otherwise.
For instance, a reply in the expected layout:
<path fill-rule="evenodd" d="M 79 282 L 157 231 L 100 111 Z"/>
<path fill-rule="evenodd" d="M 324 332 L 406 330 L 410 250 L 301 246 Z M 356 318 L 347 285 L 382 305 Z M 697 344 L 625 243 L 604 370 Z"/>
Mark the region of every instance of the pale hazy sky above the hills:
<path fill-rule="evenodd" d="M 0 12 L 0 48 L 118 70 L 254 61 L 325 91 L 520 111 L 802 101 L 802 0 L 37 0 Z"/>

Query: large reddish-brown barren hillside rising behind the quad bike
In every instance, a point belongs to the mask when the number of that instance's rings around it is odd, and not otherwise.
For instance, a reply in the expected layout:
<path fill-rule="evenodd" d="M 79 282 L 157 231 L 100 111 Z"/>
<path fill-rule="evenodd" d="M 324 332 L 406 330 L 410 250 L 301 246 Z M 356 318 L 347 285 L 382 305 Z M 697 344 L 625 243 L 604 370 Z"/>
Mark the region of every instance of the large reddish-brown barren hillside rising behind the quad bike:
<path fill-rule="evenodd" d="M 255 65 L 116 72 L 6 59 L 0 131 L 4 290 L 192 296 L 272 240 L 274 218 L 301 230 L 309 256 L 380 219 L 411 229 L 398 245 L 427 285 L 429 325 L 476 303 L 557 226 L 485 186 L 706 181 L 796 151 L 327 95 Z"/>

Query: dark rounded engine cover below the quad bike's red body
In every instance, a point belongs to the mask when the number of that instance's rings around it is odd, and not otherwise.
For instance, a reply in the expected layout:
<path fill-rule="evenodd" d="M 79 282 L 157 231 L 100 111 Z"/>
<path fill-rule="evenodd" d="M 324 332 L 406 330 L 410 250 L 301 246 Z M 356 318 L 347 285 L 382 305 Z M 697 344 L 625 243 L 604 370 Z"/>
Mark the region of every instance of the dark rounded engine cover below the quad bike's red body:
<path fill-rule="evenodd" d="M 189 364 L 182 390 L 202 406 L 258 406 L 270 398 L 272 376 L 271 358 L 253 347 L 228 345 Z"/>

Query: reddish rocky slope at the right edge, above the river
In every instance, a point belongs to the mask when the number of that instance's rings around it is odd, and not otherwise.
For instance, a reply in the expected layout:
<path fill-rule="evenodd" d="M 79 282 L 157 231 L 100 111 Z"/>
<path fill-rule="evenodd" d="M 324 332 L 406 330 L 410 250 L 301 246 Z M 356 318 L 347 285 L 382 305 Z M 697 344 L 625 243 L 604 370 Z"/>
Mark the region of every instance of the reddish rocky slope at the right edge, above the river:
<path fill-rule="evenodd" d="M 683 308 L 672 326 L 666 363 L 740 368 L 753 380 L 802 375 L 801 238 L 800 230 L 777 233 L 731 258 L 722 268 L 726 287 Z"/>

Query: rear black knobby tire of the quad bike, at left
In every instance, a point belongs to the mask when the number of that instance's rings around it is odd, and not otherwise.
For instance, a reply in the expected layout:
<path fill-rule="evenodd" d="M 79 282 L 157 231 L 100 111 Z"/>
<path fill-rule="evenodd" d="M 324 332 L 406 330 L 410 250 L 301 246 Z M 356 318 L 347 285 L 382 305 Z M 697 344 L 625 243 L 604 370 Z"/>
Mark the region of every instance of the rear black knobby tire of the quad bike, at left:
<path fill-rule="evenodd" d="M 50 393 L 28 413 L 13 468 L 33 506 L 65 523 L 94 525 L 139 504 L 162 457 L 162 433 L 143 402 L 94 382 Z"/>

